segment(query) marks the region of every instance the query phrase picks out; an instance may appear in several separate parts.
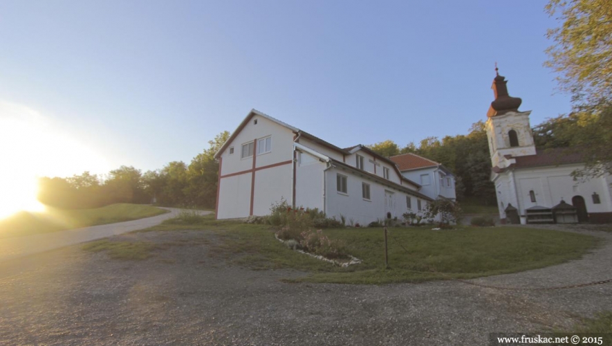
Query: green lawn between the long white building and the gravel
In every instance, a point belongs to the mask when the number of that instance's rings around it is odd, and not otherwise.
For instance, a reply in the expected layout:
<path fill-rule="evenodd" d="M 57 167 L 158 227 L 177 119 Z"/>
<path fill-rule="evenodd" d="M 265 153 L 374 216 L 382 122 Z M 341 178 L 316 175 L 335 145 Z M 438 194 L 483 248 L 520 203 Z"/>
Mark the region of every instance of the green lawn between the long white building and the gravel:
<path fill-rule="evenodd" d="M 362 264 L 338 268 L 291 251 L 264 225 L 216 221 L 207 216 L 196 224 L 171 219 L 143 231 L 198 229 L 216 231 L 221 242 L 212 245 L 212 251 L 239 264 L 255 269 L 295 268 L 310 273 L 300 281 L 350 284 L 444 279 L 432 273 L 432 268 L 456 278 L 526 271 L 579 258 L 598 242 L 588 235 L 528 228 L 389 228 L 389 268 L 384 268 L 382 228 L 324 230 L 329 237 L 346 242 L 348 252 L 363 260 Z"/>

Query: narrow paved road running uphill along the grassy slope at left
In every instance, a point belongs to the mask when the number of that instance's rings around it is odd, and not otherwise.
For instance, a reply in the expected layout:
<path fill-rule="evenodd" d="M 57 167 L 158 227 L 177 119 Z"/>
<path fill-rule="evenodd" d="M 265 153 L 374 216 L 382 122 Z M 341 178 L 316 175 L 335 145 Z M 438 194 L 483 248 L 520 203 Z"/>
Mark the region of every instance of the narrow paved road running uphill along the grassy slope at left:
<path fill-rule="evenodd" d="M 39 235 L 0 239 L 0 262 L 32 255 L 34 253 L 42 253 L 68 245 L 111 237 L 111 235 L 120 235 L 133 230 L 141 230 L 142 228 L 156 226 L 161 224 L 165 219 L 176 217 L 180 211 L 178 208 L 162 209 L 170 210 L 170 212 L 155 217 L 147 217 L 145 219 L 118 222 L 117 224 L 106 224 L 76 228 L 73 230 L 60 230 L 59 232 L 43 233 Z M 201 212 L 202 215 L 211 213 L 210 211 Z"/>

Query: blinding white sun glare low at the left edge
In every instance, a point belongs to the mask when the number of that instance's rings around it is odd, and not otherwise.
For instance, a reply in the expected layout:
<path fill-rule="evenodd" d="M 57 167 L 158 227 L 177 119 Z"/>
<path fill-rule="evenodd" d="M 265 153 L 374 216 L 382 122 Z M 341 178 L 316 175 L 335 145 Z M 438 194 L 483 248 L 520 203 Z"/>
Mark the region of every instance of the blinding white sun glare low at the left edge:
<path fill-rule="evenodd" d="M 0 219 L 37 212 L 39 176 L 105 172 L 106 161 L 36 111 L 0 101 Z"/>

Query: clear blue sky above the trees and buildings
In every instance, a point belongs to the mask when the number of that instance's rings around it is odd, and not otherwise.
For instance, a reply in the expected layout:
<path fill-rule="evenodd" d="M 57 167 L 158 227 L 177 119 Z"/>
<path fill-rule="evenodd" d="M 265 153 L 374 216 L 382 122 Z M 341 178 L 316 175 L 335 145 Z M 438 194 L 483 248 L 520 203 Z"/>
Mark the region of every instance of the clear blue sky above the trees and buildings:
<path fill-rule="evenodd" d="M 189 163 L 252 108 L 340 147 L 404 146 L 485 120 L 497 61 L 535 125 L 570 109 L 542 66 L 545 4 L 2 1 L 0 117 L 35 112 L 105 163 L 40 174 Z"/>

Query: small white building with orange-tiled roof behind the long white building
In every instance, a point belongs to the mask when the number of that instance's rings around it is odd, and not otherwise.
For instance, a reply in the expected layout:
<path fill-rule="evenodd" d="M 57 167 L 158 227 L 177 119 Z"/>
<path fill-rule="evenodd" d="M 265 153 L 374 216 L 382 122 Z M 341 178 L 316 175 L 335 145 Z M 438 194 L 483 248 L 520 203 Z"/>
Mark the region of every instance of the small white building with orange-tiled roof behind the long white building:
<path fill-rule="evenodd" d="M 417 154 L 391 156 L 407 179 L 418 182 L 420 192 L 431 199 L 443 197 L 455 201 L 455 176 L 446 167 Z"/>

